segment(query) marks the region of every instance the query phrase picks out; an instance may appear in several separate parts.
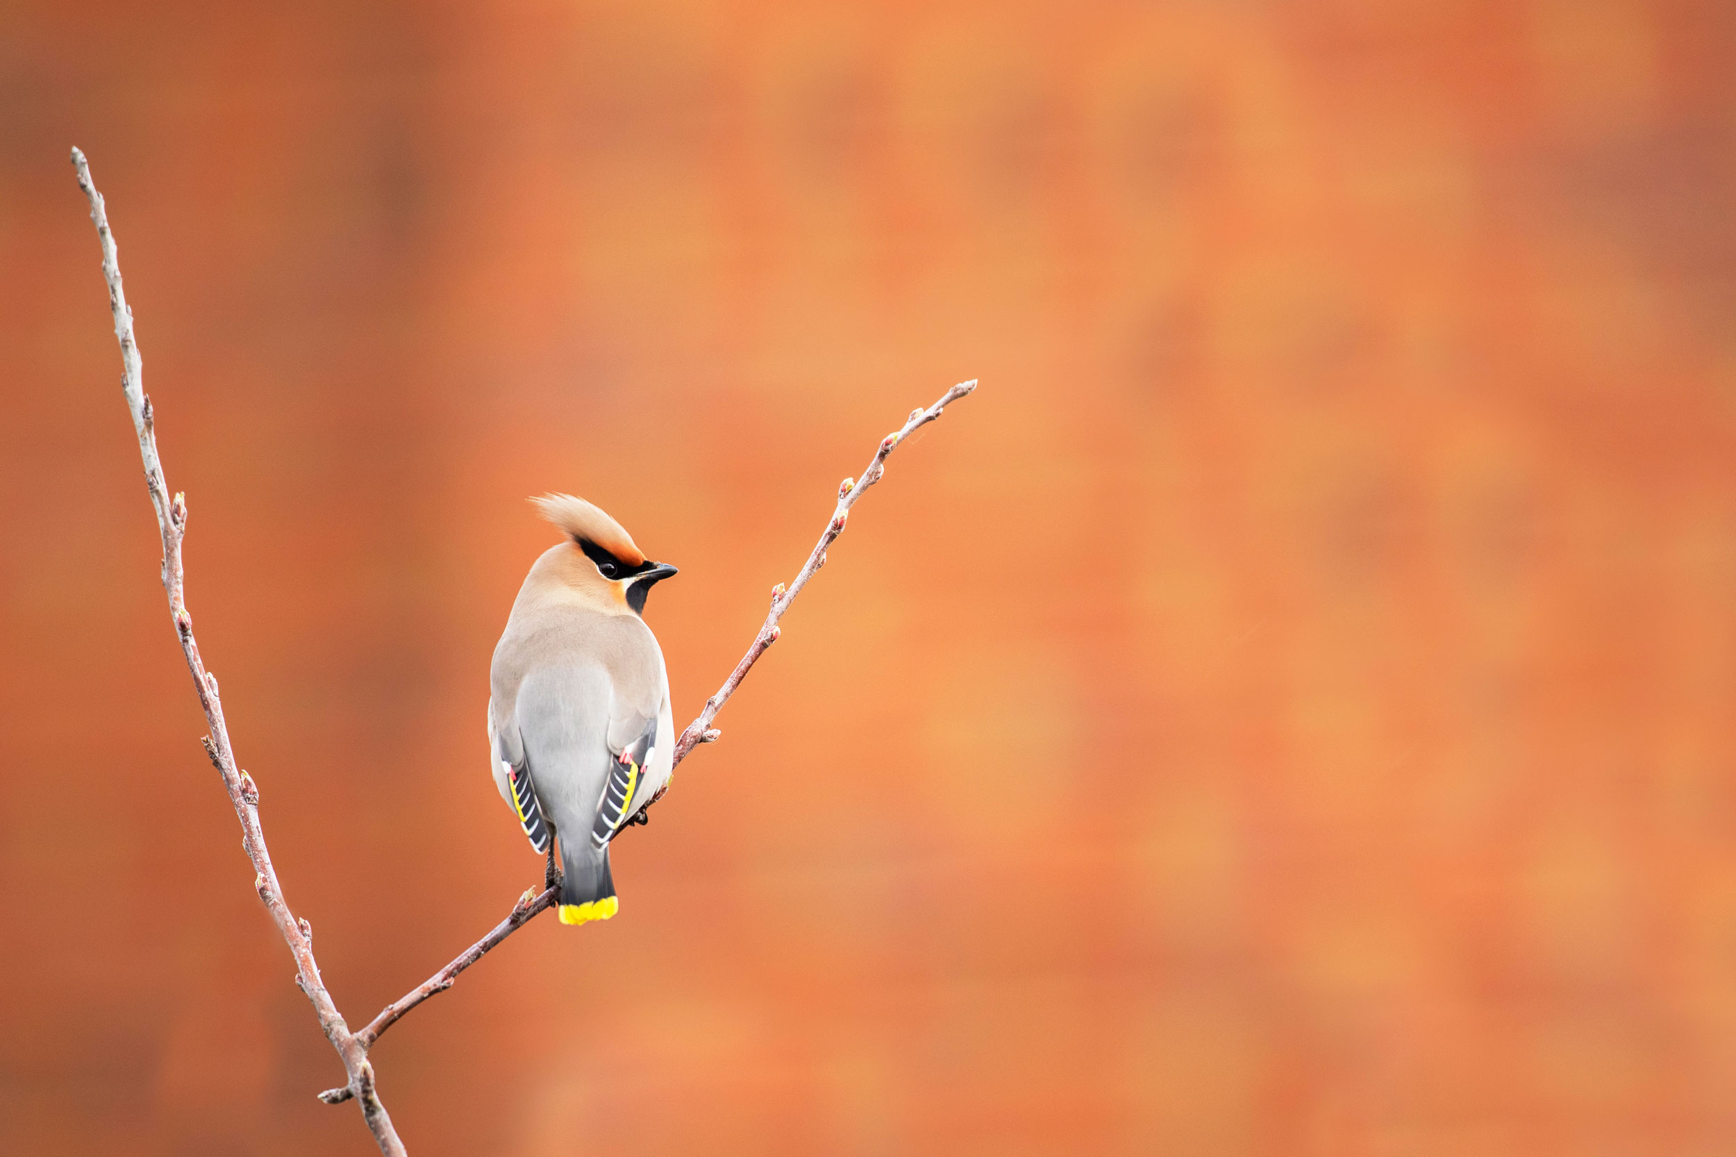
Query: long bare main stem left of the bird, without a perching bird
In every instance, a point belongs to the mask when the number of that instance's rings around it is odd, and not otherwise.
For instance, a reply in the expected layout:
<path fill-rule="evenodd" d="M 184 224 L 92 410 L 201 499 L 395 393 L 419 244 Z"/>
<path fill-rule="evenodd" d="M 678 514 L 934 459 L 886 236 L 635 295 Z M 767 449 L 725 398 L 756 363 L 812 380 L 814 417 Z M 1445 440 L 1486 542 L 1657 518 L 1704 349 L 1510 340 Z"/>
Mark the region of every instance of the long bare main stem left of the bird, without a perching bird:
<path fill-rule="evenodd" d="M 361 1114 L 378 1141 L 380 1152 L 387 1157 L 403 1157 L 404 1145 L 398 1140 L 392 1119 L 373 1091 L 373 1067 L 368 1063 L 366 1046 L 351 1034 L 344 1016 L 339 1015 L 332 994 L 319 980 L 319 964 L 314 961 L 312 928 L 306 919 L 297 921 L 290 912 L 288 900 L 283 899 L 283 886 L 278 873 L 271 866 L 271 853 L 266 850 L 266 833 L 259 826 L 259 788 L 253 777 L 243 772 L 229 746 L 229 729 L 224 725 L 222 699 L 217 696 L 217 677 L 205 670 L 200 659 L 200 645 L 193 638 L 193 616 L 187 614 L 186 571 L 181 565 L 181 543 L 187 533 L 186 496 L 168 498 L 168 484 L 163 480 L 163 463 L 156 453 L 156 423 L 151 399 L 144 395 L 142 361 L 139 342 L 132 333 L 132 309 L 127 307 L 127 295 L 122 290 L 120 262 L 115 253 L 115 234 L 109 231 L 108 213 L 102 208 L 102 194 L 90 182 L 90 167 L 85 154 L 73 149 L 73 168 L 78 172 L 78 187 L 90 201 L 90 220 L 95 222 L 97 239 L 102 245 L 102 278 L 109 288 L 109 307 L 115 312 L 115 337 L 120 340 L 122 378 L 120 389 L 127 395 L 127 409 L 132 413 L 132 427 L 139 435 L 139 454 L 144 460 L 144 482 L 151 491 L 151 507 L 156 510 L 156 529 L 163 538 L 163 590 L 168 592 L 168 611 L 181 637 L 181 650 L 187 657 L 187 670 L 193 673 L 193 687 L 198 690 L 200 706 L 205 708 L 205 722 L 210 735 L 205 739 L 205 751 L 222 775 L 229 791 L 229 803 L 241 820 L 241 847 L 247 859 L 253 862 L 253 886 L 259 899 L 266 902 L 271 919 L 276 921 L 283 942 L 290 945 L 295 958 L 295 982 L 314 1006 L 319 1027 L 325 1030 L 332 1048 L 344 1062 L 349 1074 L 351 1096 L 361 1101 Z"/>

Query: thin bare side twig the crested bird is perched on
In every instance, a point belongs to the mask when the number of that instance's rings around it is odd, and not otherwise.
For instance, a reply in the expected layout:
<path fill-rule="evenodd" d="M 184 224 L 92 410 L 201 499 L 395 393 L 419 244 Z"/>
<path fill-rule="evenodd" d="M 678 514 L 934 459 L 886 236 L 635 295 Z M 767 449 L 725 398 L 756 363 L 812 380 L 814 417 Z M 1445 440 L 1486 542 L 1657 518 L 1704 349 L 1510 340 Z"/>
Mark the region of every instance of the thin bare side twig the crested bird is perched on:
<path fill-rule="evenodd" d="M 821 565 L 825 565 L 826 546 L 830 546 L 833 539 L 837 539 L 837 536 L 844 533 L 844 524 L 849 520 L 849 510 L 851 507 L 856 505 L 856 500 L 863 496 L 863 491 L 878 482 L 880 475 L 885 474 L 887 454 L 891 454 L 898 448 L 898 444 L 903 442 L 906 437 L 910 437 L 918 427 L 924 427 L 939 418 L 941 411 L 944 411 L 946 406 L 958 401 L 974 389 L 976 389 L 974 378 L 970 382 L 960 382 L 953 389 L 946 390 L 941 401 L 934 402 L 927 409 L 910 411 L 910 420 L 904 422 L 904 427 L 894 434 L 885 435 L 885 439 L 880 441 L 880 446 L 875 448 L 873 458 L 868 460 L 868 468 L 863 470 L 861 479 L 856 480 L 844 479 L 844 482 L 838 486 L 838 505 L 832 510 L 832 520 L 826 524 L 825 533 L 821 533 L 819 543 L 814 545 L 812 553 L 807 555 L 807 562 L 802 564 L 800 571 L 797 571 L 795 581 L 790 583 L 788 588 L 785 588 L 783 583 L 778 583 L 778 586 L 773 588 L 771 612 L 766 616 L 766 623 L 760 626 L 759 635 L 755 635 L 753 645 L 748 647 L 748 652 L 745 656 L 741 656 L 741 663 L 738 663 L 736 670 L 729 673 L 729 678 L 724 682 L 719 692 L 705 701 L 705 711 L 700 713 L 700 718 L 687 723 L 686 730 L 681 732 L 681 739 L 675 741 L 675 763 L 681 763 L 684 758 L 687 758 L 687 753 L 693 751 L 698 744 L 715 742 L 722 735 L 722 732 L 712 727 L 712 720 L 715 720 L 722 706 L 729 703 L 729 696 L 736 694 L 736 687 L 740 687 L 741 680 L 746 678 L 750 670 L 753 670 L 753 664 L 759 663 L 759 657 L 766 654 L 766 649 L 778 640 L 779 633 L 778 619 L 781 619 L 783 612 L 790 609 L 790 604 L 795 602 L 795 597 L 802 592 L 804 586 L 807 586 L 807 581 L 814 578 L 814 572 L 819 571 Z M 661 800 L 663 791 L 668 791 L 667 782 L 663 784 L 661 791 L 651 796 L 651 803 Z M 648 803 L 646 807 L 649 808 L 651 803 Z M 375 1016 L 366 1029 L 356 1034 L 356 1037 L 363 1044 L 372 1046 L 380 1037 L 382 1032 L 385 1032 L 392 1023 L 398 1022 L 399 1016 L 403 1016 L 411 1008 L 429 999 L 436 992 L 444 992 L 446 989 L 450 989 L 460 971 L 464 971 L 476 961 L 483 959 L 484 952 L 488 952 L 502 940 L 510 937 L 514 931 L 523 928 L 526 923 L 529 923 L 533 916 L 542 912 L 545 907 L 552 907 L 557 893 L 559 888 L 554 886 L 554 883 L 550 881 L 549 890 L 543 892 L 540 897 L 536 897 L 536 900 L 529 904 L 528 909 L 524 907 L 526 900 L 521 899 L 519 905 L 512 909 L 512 914 L 507 916 L 507 919 L 503 919 L 493 931 L 490 931 L 486 937 L 467 947 L 458 956 L 458 959 L 441 968 L 437 973 L 424 980 L 418 987 L 411 989 L 398 1001 L 387 1004 L 385 1010 L 378 1016 Z M 526 893 L 526 897 L 528 895 L 529 893 Z M 349 1096 L 351 1091 L 347 1088 L 328 1089 L 319 1095 L 319 1100 L 330 1105 L 337 1105 L 340 1101 L 349 1100 Z"/>

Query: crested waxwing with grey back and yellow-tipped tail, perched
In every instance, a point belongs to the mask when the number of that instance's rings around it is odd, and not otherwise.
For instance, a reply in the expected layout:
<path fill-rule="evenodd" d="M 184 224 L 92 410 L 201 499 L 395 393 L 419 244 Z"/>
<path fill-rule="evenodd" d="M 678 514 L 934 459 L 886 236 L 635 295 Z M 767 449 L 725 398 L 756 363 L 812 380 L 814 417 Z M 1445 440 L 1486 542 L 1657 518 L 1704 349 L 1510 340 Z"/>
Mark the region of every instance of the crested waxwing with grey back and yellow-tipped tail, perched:
<path fill-rule="evenodd" d="M 531 564 L 490 671 L 495 784 L 529 836 L 561 841 L 561 923 L 615 916 L 609 841 L 668 782 L 663 650 L 641 614 L 675 567 L 583 498 L 533 498 L 569 541 Z"/>

